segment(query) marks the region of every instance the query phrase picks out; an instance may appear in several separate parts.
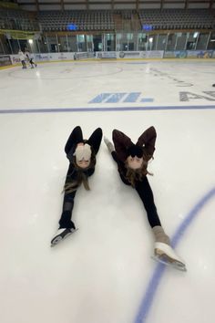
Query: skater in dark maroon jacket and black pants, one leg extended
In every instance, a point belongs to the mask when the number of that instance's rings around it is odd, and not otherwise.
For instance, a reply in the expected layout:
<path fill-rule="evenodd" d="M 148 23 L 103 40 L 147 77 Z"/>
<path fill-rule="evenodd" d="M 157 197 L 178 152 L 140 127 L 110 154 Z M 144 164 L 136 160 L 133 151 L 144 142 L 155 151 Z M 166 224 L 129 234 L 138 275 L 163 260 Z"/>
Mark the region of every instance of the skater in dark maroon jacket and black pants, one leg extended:
<path fill-rule="evenodd" d="M 154 197 L 150 188 L 147 175 L 148 161 L 153 158 L 155 151 L 156 130 L 154 127 L 145 130 L 134 144 L 128 136 L 113 130 L 113 142 L 105 137 L 108 151 L 115 162 L 118 163 L 119 176 L 127 185 L 131 185 L 138 193 L 148 215 L 148 223 L 155 237 L 154 259 L 165 265 L 172 265 L 179 270 L 186 270 L 184 262 L 170 246 L 169 236 L 165 234 L 160 224 Z"/>

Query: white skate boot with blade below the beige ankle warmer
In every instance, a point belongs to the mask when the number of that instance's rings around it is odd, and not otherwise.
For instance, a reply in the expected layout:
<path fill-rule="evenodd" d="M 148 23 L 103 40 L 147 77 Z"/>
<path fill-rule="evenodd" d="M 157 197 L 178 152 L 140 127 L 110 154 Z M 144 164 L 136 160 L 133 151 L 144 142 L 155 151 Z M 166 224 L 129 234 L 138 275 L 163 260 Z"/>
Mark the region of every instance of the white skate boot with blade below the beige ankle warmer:
<path fill-rule="evenodd" d="M 181 271 L 187 271 L 184 262 L 176 255 L 170 245 L 155 243 L 153 258 L 162 264 L 173 266 Z"/>

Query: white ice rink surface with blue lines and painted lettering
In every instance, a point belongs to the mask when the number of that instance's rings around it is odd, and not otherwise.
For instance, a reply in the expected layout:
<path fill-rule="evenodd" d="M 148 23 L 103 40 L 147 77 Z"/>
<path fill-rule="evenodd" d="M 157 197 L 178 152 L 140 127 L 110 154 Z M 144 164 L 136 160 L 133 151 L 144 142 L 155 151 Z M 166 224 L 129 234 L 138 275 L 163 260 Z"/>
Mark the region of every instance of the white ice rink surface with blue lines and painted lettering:
<path fill-rule="evenodd" d="M 214 323 L 215 62 L 40 64 L 0 71 L 0 313 L 3 323 Z M 148 176 L 159 217 L 187 273 L 151 259 L 136 192 L 104 142 L 79 230 L 54 248 L 77 125 L 133 141 L 155 126 Z"/>

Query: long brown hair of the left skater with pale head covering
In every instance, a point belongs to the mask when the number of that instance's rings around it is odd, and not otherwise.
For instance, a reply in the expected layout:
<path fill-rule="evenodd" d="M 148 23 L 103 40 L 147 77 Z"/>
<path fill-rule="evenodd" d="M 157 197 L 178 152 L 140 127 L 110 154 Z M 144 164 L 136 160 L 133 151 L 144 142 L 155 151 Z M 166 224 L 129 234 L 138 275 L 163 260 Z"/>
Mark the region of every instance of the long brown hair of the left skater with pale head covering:
<path fill-rule="evenodd" d="M 92 149 L 92 154 L 90 157 L 90 163 L 87 166 L 87 168 L 81 168 L 77 165 L 76 156 L 73 156 L 71 161 L 74 172 L 76 172 L 75 178 L 69 179 L 69 176 L 67 178 L 67 182 L 64 185 L 63 192 L 65 193 L 72 193 L 74 191 L 77 191 L 77 187 L 80 186 L 82 183 L 87 191 L 90 190 L 89 183 L 88 183 L 88 176 L 87 171 L 89 169 L 95 168 L 96 165 L 96 154 Z"/>

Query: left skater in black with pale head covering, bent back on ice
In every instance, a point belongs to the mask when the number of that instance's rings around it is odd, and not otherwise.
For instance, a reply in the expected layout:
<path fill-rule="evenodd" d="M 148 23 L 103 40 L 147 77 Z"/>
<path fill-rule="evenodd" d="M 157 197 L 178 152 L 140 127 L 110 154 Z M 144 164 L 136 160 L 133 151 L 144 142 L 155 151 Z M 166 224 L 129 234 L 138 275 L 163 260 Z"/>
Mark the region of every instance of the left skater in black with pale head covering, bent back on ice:
<path fill-rule="evenodd" d="M 59 220 L 59 228 L 51 241 L 51 245 L 57 245 L 69 234 L 76 231 L 72 221 L 72 211 L 78 187 L 83 183 L 89 190 L 88 177 L 95 172 L 96 155 L 102 139 L 102 130 L 97 128 L 88 140 L 83 139 L 82 130 L 77 126 L 70 134 L 65 152 L 69 160 L 67 179 L 64 187 L 63 210 Z"/>

